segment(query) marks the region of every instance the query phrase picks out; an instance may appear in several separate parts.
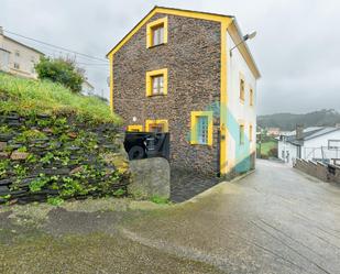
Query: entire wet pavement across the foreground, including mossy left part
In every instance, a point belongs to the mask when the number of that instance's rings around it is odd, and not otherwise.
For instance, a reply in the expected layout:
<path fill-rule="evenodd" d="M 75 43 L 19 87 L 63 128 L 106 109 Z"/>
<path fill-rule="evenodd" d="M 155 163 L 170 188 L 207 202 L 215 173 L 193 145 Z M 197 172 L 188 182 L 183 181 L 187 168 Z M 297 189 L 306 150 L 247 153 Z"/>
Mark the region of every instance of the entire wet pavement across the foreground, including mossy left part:
<path fill-rule="evenodd" d="M 0 273 L 340 274 L 340 187 L 267 161 L 167 209 L 12 221 L 0 213 Z"/>

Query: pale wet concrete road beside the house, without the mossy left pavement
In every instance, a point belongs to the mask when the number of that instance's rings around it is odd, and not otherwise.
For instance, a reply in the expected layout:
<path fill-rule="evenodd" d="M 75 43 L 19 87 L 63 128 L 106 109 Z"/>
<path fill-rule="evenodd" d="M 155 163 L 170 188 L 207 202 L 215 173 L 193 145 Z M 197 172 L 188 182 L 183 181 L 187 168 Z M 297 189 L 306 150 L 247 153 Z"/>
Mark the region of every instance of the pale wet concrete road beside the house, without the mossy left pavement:
<path fill-rule="evenodd" d="M 339 274 L 340 188 L 259 161 L 242 180 L 124 231 L 226 273 Z"/>

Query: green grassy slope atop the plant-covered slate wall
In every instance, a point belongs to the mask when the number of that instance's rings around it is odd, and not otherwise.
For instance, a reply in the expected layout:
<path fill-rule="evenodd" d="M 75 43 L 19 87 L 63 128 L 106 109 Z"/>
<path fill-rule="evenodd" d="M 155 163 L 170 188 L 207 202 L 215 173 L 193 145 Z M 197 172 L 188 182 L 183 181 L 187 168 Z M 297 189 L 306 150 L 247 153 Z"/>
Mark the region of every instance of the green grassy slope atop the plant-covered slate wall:
<path fill-rule="evenodd" d="M 20 114 L 75 114 L 97 122 L 120 123 L 121 119 L 101 100 L 73 94 L 47 80 L 25 79 L 0 73 L 0 110 Z"/>

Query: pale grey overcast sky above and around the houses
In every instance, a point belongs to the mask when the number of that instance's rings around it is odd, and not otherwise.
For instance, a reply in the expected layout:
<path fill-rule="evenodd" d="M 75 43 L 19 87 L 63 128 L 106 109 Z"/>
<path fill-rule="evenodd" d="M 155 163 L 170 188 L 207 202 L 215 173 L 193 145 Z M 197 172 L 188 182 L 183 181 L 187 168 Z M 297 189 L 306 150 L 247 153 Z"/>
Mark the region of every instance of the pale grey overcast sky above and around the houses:
<path fill-rule="evenodd" d="M 103 58 L 155 4 L 232 14 L 244 34 L 257 31 L 249 46 L 262 73 L 259 113 L 340 110 L 339 0 L 0 0 L 0 25 Z M 108 96 L 108 66 L 86 69 L 98 94 Z"/>

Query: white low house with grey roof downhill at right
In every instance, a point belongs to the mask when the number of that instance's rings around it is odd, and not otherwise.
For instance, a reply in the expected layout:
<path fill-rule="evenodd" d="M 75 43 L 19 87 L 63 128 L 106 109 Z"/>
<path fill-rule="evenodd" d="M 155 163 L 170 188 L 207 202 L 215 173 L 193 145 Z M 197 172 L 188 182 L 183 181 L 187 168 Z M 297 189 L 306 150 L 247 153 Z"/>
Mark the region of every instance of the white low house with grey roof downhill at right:
<path fill-rule="evenodd" d="M 332 162 L 340 158 L 340 128 L 311 127 L 279 135 L 278 157 L 286 163 L 295 158 Z"/>

